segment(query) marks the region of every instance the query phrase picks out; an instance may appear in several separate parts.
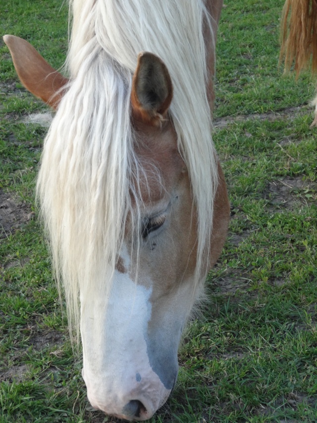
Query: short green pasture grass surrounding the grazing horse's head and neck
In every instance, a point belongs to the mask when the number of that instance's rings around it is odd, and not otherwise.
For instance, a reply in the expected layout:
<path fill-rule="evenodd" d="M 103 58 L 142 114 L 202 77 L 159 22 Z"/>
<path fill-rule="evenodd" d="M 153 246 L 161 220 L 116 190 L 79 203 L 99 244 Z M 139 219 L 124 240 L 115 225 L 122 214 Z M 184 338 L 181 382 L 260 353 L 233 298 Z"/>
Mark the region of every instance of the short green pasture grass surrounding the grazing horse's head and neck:
<path fill-rule="evenodd" d="M 228 0 L 217 41 L 214 141 L 232 205 L 210 303 L 180 349 L 178 382 L 150 422 L 317 421 L 315 81 L 278 68 L 283 0 Z M 3 7 L 2 7 L 3 9 Z M 59 67 L 61 0 L 10 1 L 1 34 L 30 41 Z M 37 214 L 43 111 L 0 43 L 0 189 Z M 267 114 L 261 119 L 249 115 Z M 239 116 L 246 118 L 240 119 Z M 230 119 L 228 119 L 230 117 Z M 111 422 L 89 409 L 36 219 L 0 240 L 0 422 Z"/>

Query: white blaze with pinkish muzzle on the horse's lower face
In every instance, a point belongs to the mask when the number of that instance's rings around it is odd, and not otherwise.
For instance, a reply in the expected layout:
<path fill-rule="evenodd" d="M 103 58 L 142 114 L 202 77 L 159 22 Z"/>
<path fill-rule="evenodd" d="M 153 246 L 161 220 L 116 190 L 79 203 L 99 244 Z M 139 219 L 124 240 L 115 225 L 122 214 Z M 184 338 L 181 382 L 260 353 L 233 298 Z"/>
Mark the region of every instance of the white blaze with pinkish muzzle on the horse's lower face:
<path fill-rule="evenodd" d="M 122 253 L 128 268 L 129 255 Z M 83 377 L 89 401 L 107 414 L 129 418 L 127 404 L 140 401 L 146 411 L 134 420 L 146 420 L 170 394 L 147 353 L 151 292 L 116 270 L 106 308 L 102 298 L 82 307 Z"/>

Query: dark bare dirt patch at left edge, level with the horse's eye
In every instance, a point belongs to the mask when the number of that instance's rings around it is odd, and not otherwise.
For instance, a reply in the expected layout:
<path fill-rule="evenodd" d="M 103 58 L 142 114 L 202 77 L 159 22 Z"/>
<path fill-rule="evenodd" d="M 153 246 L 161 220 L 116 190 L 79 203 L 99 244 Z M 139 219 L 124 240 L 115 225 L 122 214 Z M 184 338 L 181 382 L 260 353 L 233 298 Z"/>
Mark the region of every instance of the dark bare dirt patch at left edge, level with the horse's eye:
<path fill-rule="evenodd" d="M 0 239 L 14 233 L 33 217 L 30 204 L 25 201 L 18 203 L 10 194 L 0 189 Z"/>

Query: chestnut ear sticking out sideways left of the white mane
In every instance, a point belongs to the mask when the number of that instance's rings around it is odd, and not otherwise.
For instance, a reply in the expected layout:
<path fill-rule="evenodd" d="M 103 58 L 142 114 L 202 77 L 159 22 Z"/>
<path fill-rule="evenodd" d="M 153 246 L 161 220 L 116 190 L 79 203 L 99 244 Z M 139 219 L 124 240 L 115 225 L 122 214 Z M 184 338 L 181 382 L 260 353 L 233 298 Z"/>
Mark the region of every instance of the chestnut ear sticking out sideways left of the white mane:
<path fill-rule="evenodd" d="M 36 97 L 56 109 L 62 96 L 62 88 L 68 79 L 57 72 L 43 57 L 22 38 L 4 35 L 4 43 L 10 50 L 20 81 Z"/>

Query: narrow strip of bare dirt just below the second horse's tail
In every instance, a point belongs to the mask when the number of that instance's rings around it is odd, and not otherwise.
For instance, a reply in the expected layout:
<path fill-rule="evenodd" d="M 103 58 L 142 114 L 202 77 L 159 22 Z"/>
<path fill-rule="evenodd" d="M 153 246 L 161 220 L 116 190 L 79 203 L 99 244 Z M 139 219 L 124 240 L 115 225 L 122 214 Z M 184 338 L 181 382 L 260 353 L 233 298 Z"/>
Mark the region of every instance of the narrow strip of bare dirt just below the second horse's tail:
<path fill-rule="evenodd" d="M 242 121 L 250 121 L 257 119 L 259 121 L 276 121 L 281 119 L 282 117 L 285 118 L 294 118 L 298 115 L 303 113 L 307 113 L 307 106 L 302 107 L 289 107 L 287 109 L 281 110 L 279 112 L 267 112 L 267 113 L 256 113 L 253 115 L 239 115 L 239 116 L 227 116 L 225 118 L 215 119 L 213 121 L 215 128 L 224 128 L 228 126 L 230 123 L 233 122 L 242 122 Z"/>

